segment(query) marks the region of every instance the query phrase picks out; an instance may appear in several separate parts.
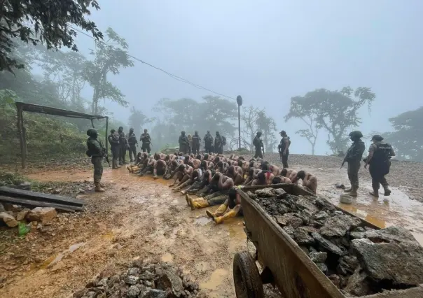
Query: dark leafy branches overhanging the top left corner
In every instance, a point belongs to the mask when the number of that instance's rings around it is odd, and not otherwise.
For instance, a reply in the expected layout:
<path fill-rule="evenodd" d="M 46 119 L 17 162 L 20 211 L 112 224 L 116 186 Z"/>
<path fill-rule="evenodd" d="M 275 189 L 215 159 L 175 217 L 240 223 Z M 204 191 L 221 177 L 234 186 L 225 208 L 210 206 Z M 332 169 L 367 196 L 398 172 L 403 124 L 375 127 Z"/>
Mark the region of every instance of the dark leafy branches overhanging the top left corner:
<path fill-rule="evenodd" d="M 89 7 L 99 10 L 95 0 L 4 0 L 0 9 L 0 71 L 13 72 L 24 64 L 13 57 L 14 38 L 36 45 L 43 43 L 48 49 L 65 46 L 78 51 L 74 37 L 76 31 L 70 25 L 90 31 L 94 38 L 103 35 L 94 22 L 86 20 Z"/>

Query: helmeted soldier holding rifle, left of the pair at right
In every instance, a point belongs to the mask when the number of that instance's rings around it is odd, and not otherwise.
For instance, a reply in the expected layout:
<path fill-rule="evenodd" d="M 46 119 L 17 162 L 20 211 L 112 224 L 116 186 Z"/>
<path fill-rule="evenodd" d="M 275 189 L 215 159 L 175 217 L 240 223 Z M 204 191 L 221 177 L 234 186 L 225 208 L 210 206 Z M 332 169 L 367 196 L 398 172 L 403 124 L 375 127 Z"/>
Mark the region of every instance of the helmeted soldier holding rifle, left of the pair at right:
<path fill-rule="evenodd" d="M 347 155 L 345 155 L 344 162 L 348 162 L 348 179 L 349 183 L 351 183 L 351 187 L 345 190 L 345 192 L 349 192 L 349 195 L 352 197 L 357 196 L 357 190 L 359 189 L 359 169 L 360 169 L 360 162 L 361 158 L 363 157 L 363 152 L 366 146 L 364 142 L 361 141 L 363 134 L 358 130 L 349 133 L 349 139 L 352 141 L 351 147 L 349 147 L 347 151 Z"/>

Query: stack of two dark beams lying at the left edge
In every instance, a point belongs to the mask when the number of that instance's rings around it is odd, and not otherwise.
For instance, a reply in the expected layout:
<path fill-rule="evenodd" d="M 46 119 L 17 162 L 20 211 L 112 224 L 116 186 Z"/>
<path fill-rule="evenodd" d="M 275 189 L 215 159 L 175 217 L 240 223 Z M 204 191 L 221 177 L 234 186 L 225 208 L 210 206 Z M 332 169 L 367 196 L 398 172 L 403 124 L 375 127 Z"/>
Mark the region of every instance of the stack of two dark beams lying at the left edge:
<path fill-rule="evenodd" d="M 53 207 L 57 211 L 83 211 L 85 202 L 71 197 L 18 190 L 11 187 L 0 187 L 0 202 L 18 204 L 27 207 Z"/>

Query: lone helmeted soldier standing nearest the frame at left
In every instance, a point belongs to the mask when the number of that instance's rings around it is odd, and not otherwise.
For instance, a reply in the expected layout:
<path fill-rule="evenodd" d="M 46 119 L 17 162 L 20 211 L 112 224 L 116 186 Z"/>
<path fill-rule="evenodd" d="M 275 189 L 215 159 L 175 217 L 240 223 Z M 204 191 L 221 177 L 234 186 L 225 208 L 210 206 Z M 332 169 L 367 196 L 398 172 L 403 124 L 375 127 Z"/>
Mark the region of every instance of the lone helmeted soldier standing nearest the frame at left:
<path fill-rule="evenodd" d="M 103 175 L 103 157 L 106 149 L 102 143 L 97 140 L 98 132 L 97 129 L 90 128 L 87 131 L 89 136 L 87 140 L 88 150 L 86 154 L 91 157 L 91 163 L 94 165 L 94 185 L 96 192 L 104 192 L 104 188 L 100 185 Z"/>

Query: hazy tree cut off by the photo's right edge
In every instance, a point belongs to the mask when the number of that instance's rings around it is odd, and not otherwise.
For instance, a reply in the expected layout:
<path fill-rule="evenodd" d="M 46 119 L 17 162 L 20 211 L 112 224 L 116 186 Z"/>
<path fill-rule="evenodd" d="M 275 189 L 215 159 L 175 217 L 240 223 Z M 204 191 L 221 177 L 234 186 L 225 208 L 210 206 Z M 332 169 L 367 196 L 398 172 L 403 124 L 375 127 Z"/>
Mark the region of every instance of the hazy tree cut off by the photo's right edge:
<path fill-rule="evenodd" d="M 394 132 L 384 133 L 387 141 L 396 150 L 399 159 L 412 159 L 423 162 L 423 107 L 390 118 Z"/>

